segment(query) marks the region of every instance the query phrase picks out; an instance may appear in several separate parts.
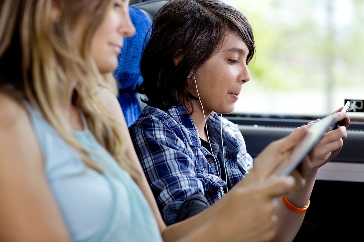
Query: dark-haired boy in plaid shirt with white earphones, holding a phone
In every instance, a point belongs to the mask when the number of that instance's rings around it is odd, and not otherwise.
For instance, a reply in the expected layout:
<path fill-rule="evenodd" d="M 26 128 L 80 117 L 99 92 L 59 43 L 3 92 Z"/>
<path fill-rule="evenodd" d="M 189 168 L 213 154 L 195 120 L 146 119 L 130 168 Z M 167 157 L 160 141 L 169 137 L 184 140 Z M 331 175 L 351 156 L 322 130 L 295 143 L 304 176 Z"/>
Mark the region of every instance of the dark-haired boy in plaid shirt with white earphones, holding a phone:
<path fill-rule="evenodd" d="M 174 0 L 152 29 L 139 88 L 149 106 L 129 130 L 158 207 L 172 224 L 208 208 L 243 177 L 246 184 L 265 179 L 274 167 L 255 160 L 252 169 L 240 131 L 216 114 L 232 112 L 250 80 L 255 47 L 245 16 L 218 0 Z M 340 151 L 348 118 L 344 124 L 316 145 L 305 186 L 285 197 L 301 212 L 319 168 Z M 289 241 L 304 213 L 279 206 L 277 239 Z"/>

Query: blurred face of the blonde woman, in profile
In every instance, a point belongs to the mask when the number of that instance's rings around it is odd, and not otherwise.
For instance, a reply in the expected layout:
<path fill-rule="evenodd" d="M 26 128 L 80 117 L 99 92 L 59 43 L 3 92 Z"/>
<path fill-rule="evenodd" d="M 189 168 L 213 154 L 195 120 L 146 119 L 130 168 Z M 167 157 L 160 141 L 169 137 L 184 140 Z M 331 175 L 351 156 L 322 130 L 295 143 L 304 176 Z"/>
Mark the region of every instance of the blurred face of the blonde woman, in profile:
<path fill-rule="evenodd" d="M 101 73 L 113 71 L 118 66 L 124 37 L 135 33 L 129 16 L 128 0 L 113 0 L 102 23 L 91 41 L 91 57 Z"/>

